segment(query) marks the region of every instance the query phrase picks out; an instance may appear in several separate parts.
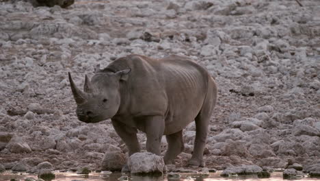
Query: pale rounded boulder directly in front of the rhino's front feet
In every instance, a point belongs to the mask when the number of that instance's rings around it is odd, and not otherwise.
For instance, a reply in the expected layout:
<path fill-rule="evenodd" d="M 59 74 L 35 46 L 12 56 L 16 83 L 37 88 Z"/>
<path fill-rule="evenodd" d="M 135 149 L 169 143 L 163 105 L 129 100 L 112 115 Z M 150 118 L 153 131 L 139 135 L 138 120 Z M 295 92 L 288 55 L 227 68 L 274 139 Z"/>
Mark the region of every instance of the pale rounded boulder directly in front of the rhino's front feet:
<path fill-rule="evenodd" d="M 133 174 L 163 173 L 165 163 L 162 156 L 149 152 L 135 153 L 128 159 L 128 167 Z"/>

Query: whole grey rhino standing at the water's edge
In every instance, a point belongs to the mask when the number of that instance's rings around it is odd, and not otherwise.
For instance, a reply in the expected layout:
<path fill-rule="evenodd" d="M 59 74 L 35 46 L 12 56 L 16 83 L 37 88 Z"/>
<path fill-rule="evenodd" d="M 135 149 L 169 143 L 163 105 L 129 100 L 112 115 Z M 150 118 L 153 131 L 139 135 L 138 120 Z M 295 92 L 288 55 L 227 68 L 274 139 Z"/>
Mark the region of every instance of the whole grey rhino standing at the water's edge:
<path fill-rule="evenodd" d="M 204 167 L 203 151 L 217 86 L 209 73 L 185 56 L 152 59 L 131 55 L 119 58 L 103 70 L 96 68 L 91 81 L 85 75 L 79 90 L 69 73 L 77 116 L 85 123 L 110 119 L 129 149 L 140 151 L 137 130 L 146 133 L 146 149 L 160 155 L 166 136 L 165 164 L 183 149 L 183 128 L 196 121 L 196 140 L 189 165 Z"/>

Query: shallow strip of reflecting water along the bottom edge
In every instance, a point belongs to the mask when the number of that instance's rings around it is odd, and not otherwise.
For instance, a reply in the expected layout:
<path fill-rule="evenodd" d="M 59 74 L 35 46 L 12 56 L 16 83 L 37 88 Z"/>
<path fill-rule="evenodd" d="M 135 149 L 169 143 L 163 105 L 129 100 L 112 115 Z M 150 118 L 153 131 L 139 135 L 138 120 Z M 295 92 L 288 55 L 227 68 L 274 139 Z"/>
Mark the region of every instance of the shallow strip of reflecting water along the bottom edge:
<path fill-rule="evenodd" d="M 220 177 L 221 171 L 217 171 L 216 173 L 210 173 L 209 176 L 201 176 L 200 174 L 196 173 L 178 173 L 181 175 L 180 179 L 171 179 L 167 178 L 166 175 L 160 177 L 150 177 L 150 176 L 130 176 L 124 175 L 122 173 L 111 173 L 110 175 L 105 175 L 103 173 L 90 173 L 89 175 L 79 175 L 72 172 L 55 172 L 55 179 L 52 181 L 119 181 L 120 177 L 125 178 L 126 176 L 129 177 L 131 181 L 214 181 L 214 180 L 230 180 L 230 181 L 278 181 L 282 179 L 282 172 L 274 172 L 271 173 L 270 178 L 258 178 L 258 176 L 237 176 L 232 178 L 223 178 Z M 25 180 L 25 178 L 37 178 L 36 175 L 28 174 L 28 173 L 11 173 L 5 172 L 0 173 L 0 180 Z M 301 178 L 301 181 L 315 181 L 320 180 L 320 178 Z"/>

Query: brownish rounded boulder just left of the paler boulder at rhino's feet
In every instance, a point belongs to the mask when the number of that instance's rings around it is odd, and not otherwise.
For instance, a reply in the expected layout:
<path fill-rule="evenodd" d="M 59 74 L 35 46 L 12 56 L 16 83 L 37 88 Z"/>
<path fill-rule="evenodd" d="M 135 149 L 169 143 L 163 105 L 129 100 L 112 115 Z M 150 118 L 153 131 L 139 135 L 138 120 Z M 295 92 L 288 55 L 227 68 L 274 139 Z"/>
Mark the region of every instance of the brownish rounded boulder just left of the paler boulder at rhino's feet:
<path fill-rule="evenodd" d="M 101 170 L 120 171 L 126 164 L 126 158 L 122 152 L 107 152 L 101 163 Z"/>

